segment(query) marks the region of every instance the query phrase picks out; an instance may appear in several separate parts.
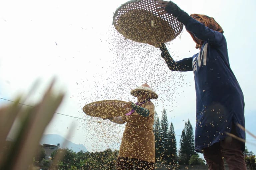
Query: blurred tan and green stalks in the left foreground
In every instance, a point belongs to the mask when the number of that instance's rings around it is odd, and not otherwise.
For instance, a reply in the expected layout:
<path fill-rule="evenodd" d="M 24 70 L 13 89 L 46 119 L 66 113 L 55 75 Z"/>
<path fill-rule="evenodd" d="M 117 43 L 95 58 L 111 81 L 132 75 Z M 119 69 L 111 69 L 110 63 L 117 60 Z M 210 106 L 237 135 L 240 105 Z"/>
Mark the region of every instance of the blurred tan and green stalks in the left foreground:
<path fill-rule="evenodd" d="M 42 134 L 64 97 L 53 92 L 53 85 L 54 81 L 34 107 L 20 105 L 26 98 L 18 97 L 15 103 L 0 108 L 0 170 L 34 169 L 33 157 Z M 6 139 L 14 124 L 13 141 L 8 144 Z"/>

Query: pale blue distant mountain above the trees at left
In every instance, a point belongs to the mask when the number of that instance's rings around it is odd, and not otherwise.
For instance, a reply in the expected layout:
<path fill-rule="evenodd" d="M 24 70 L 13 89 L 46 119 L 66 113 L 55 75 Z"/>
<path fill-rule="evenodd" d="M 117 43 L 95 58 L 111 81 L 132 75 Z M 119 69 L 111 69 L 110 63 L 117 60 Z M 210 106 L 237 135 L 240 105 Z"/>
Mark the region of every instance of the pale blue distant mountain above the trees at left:
<path fill-rule="evenodd" d="M 58 135 L 58 134 L 43 134 L 40 144 L 50 144 L 50 145 L 57 145 L 60 144 L 60 148 L 69 148 L 72 149 L 74 152 L 79 151 L 87 151 L 86 147 L 82 144 L 75 144 L 64 137 Z M 64 146 L 65 144 L 65 146 Z"/>

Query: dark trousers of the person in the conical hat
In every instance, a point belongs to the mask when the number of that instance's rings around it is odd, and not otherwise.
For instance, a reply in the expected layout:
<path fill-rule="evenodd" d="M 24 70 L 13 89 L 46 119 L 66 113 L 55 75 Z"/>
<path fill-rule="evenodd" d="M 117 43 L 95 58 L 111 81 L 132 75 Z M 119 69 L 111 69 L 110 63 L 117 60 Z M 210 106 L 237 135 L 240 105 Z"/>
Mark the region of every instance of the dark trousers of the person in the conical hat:
<path fill-rule="evenodd" d="M 154 170 L 154 163 L 140 159 L 119 156 L 116 162 L 117 170 Z"/>

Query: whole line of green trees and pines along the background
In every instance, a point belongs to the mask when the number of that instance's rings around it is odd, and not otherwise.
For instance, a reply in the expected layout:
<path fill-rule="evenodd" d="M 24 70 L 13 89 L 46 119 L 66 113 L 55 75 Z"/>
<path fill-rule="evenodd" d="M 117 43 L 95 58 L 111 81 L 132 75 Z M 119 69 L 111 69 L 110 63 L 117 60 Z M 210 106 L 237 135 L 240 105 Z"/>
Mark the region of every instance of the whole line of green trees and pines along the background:
<path fill-rule="evenodd" d="M 194 146 L 193 128 L 188 120 L 185 122 L 181 133 L 179 150 L 177 149 L 176 135 L 172 122 L 168 123 L 166 110 L 163 109 L 161 121 L 158 114 L 154 115 L 153 132 L 155 135 L 156 166 L 159 165 L 204 165 Z M 74 152 L 69 148 L 58 149 L 52 152 L 51 159 L 46 159 L 44 149 L 41 147 L 39 154 L 34 158 L 34 165 L 43 170 L 115 170 L 118 150 L 106 149 L 101 152 Z M 255 155 L 248 151 L 244 152 L 246 164 L 249 169 L 255 168 Z"/>

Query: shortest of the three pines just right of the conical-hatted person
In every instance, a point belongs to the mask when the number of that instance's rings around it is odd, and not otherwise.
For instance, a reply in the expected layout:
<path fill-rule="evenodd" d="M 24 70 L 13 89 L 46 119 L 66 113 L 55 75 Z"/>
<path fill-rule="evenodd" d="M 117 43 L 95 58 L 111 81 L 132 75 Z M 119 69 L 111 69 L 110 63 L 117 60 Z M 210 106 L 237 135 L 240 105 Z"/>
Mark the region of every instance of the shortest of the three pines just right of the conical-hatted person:
<path fill-rule="evenodd" d="M 177 164 L 178 156 L 177 156 L 177 142 L 174 132 L 173 124 L 171 123 L 170 128 L 168 130 L 168 147 L 167 147 L 167 162 L 169 164 Z"/>

